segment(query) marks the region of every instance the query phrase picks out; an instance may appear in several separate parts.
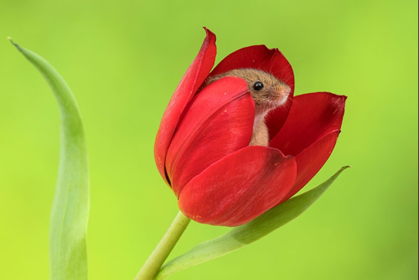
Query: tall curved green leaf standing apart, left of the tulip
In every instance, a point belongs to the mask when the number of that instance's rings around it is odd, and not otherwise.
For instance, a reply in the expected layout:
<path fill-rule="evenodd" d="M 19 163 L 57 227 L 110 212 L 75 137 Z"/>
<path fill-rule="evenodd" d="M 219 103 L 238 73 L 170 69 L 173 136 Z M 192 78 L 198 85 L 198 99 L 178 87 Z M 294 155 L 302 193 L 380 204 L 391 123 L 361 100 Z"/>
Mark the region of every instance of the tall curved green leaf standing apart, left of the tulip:
<path fill-rule="evenodd" d="M 47 80 L 60 111 L 60 158 L 49 228 L 50 279 L 87 279 L 89 175 L 79 109 L 69 86 L 48 61 L 9 40 Z"/>

